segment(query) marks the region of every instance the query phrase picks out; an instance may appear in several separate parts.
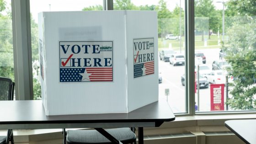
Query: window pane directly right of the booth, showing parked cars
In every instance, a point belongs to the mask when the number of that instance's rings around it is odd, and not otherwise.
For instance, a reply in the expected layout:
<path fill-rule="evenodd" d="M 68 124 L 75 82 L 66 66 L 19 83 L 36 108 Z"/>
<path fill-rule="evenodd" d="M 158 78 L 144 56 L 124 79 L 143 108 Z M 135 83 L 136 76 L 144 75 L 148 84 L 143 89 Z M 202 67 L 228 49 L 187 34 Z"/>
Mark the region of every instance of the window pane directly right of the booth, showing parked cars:
<path fill-rule="evenodd" d="M 183 75 L 185 74 L 184 0 L 149 0 L 147 2 L 113 0 L 113 2 L 114 10 L 158 12 L 159 98 L 167 100 L 173 112 L 187 112 L 185 76 Z M 169 94 L 166 96 L 165 91 L 168 90 Z"/>

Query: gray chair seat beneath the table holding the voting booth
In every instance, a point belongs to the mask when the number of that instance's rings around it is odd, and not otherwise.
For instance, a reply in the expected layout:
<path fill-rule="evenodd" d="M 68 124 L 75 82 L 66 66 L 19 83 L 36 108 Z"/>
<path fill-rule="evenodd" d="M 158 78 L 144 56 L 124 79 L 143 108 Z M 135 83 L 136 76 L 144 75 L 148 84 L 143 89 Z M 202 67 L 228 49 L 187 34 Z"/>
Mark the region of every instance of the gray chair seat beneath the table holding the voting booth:
<path fill-rule="evenodd" d="M 106 129 L 107 133 L 115 139 L 121 141 L 123 144 L 136 144 L 135 128 L 113 128 Z M 66 144 L 114 144 L 101 133 L 101 129 L 96 130 L 68 130 L 64 132 L 64 143 Z"/>

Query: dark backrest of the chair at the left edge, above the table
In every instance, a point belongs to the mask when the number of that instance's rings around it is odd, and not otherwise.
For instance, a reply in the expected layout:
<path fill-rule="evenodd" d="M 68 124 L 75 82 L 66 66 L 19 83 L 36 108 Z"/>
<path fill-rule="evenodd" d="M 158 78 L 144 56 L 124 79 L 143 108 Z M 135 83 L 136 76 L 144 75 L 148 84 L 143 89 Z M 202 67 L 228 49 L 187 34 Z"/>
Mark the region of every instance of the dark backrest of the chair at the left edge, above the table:
<path fill-rule="evenodd" d="M 0 77 L 0 101 L 13 100 L 14 82 L 9 78 Z"/>

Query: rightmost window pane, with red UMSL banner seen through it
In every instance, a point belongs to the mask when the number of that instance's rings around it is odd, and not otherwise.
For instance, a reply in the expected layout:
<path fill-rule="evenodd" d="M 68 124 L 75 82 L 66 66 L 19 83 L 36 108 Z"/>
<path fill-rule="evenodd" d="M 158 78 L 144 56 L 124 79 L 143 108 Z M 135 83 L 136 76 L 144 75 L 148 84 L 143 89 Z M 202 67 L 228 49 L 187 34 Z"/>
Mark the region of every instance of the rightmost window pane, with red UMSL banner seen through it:
<path fill-rule="evenodd" d="M 255 30 L 255 0 L 195 0 L 195 64 L 209 83 L 197 80 L 198 112 L 256 109 Z"/>

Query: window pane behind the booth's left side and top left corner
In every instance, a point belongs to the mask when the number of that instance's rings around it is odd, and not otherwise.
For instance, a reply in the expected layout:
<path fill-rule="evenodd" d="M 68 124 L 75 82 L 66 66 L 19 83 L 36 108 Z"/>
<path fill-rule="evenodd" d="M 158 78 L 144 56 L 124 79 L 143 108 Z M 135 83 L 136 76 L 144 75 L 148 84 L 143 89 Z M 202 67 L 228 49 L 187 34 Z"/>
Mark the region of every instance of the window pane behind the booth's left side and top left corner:
<path fill-rule="evenodd" d="M 102 0 L 30 0 L 34 99 L 41 99 L 38 56 L 38 18 L 41 11 L 99 11 Z"/>

